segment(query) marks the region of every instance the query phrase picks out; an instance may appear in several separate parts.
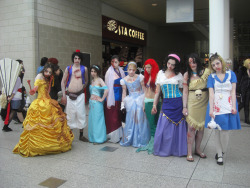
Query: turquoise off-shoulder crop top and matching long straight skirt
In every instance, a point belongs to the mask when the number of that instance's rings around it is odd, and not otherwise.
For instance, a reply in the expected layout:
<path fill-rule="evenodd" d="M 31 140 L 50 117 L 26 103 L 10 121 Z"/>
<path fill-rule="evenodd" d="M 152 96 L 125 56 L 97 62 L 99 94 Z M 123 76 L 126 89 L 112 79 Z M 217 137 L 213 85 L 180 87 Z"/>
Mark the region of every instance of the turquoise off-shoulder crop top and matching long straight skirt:
<path fill-rule="evenodd" d="M 89 86 L 90 95 L 99 97 L 102 97 L 105 89 L 108 87 Z M 94 143 L 103 143 L 107 140 L 103 103 L 96 100 L 89 100 L 88 136 L 89 141 Z"/>

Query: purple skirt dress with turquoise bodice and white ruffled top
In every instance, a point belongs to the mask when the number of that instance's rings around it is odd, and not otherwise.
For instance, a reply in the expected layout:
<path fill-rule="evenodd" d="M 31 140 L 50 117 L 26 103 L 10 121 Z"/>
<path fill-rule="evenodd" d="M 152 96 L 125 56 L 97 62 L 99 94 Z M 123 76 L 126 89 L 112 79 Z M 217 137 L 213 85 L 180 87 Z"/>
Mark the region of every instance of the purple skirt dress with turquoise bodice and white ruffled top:
<path fill-rule="evenodd" d="M 162 111 L 157 123 L 154 139 L 154 155 L 186 156 L 187 155 L 187 125 L 182 115 L 181 73 L 166 78 L 160 71 L 156 84 L 160 84 L 163 93 Z"/>

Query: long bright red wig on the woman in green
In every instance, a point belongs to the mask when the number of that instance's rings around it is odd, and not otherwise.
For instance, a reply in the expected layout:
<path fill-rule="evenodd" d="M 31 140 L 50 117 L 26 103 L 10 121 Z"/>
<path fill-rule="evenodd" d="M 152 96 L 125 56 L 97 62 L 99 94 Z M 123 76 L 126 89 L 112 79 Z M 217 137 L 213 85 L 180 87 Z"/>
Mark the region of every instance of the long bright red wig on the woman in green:
<path fill-rule="evenodd" d="M 156 76 L 157 76 L 157 73 L 159 72 L 159 66 L 154 59 L 147 59 L 144 63 L 144 68 L 146 65 L 151 65 L 152 69 L 151 69 L 150 75 L 148 74 L 148 72 L 145 69 L 145 71 L 144 71 L 144 84 L 146 86 L 146 84 L 148 83 L 149 77 L 151 76 L 150 87 L 154 90 Z"/>

